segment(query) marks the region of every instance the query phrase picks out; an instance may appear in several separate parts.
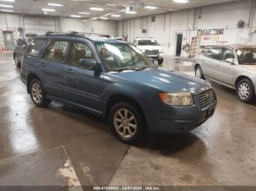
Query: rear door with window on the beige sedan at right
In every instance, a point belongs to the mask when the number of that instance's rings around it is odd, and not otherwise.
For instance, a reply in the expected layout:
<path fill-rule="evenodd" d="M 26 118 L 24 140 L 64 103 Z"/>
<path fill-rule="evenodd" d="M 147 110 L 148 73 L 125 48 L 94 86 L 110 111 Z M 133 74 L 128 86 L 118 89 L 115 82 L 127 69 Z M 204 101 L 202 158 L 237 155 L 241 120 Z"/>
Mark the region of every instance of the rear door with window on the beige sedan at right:
<path fill-rule="evenodd" d="M 205 77 L 215 79 L 216 66 L 217 62 L 219 61 L 219 55 L 221 50 L 221 47 L 211 48 L 210 50 L 208 50 L 208 52 L 206 52 L 206 55 L 203 57 L 201 66 Z"/>

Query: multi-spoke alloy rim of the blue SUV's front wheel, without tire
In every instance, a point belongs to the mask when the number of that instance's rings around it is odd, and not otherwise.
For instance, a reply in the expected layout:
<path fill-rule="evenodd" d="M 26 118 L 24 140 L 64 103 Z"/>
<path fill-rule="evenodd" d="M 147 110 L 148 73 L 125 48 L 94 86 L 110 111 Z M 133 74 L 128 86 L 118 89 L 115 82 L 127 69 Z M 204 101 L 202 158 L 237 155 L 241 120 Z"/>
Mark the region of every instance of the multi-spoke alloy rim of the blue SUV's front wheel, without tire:
<path fill-rule="evenodd" d="M 137 121 L 128 109 L 118 109 L 114 114 L 114 126 L 120 136 L 131 138 L 136 133 Z"/>

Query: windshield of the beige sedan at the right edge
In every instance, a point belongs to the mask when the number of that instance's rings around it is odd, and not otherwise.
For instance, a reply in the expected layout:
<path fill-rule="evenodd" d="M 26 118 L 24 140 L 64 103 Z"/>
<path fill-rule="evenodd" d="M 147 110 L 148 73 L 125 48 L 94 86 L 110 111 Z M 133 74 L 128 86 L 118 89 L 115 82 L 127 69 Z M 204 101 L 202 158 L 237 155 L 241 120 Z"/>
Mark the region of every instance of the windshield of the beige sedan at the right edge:
<path fill-rule="evenodd" d="M 239 64 L 256 65 L 256 49 L 244 48 L 236 50 Z"/>

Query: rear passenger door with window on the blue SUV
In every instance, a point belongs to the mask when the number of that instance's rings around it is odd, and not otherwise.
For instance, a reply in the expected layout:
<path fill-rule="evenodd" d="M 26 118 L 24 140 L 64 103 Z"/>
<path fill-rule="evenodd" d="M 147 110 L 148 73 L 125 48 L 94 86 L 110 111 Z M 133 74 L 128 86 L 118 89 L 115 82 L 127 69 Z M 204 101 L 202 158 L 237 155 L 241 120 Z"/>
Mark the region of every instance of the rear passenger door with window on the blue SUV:
<path fill-rule="evenodd" d="M 64 80 L 62 71 L 67 56 L 68 44 L 67 40 L 52 39 L 38 63 L 44 74 L 46 92 L 59 98 L 63 98 Z"/>

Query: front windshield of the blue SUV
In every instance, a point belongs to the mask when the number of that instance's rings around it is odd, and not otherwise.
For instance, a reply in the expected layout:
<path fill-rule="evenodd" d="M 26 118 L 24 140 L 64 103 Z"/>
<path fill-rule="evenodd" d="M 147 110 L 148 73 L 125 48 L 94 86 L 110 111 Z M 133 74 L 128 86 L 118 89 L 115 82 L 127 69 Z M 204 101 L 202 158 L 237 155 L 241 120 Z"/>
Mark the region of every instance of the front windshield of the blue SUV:
<path fill-rule="evenodd" d="M 108 71 L 143 70 L 156 68 L 154 63 L 130 44 L 120 42 L 96 42 L 99 55 Z"/>

